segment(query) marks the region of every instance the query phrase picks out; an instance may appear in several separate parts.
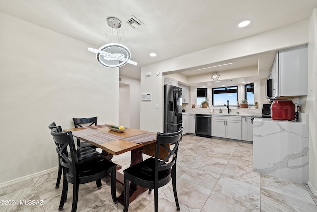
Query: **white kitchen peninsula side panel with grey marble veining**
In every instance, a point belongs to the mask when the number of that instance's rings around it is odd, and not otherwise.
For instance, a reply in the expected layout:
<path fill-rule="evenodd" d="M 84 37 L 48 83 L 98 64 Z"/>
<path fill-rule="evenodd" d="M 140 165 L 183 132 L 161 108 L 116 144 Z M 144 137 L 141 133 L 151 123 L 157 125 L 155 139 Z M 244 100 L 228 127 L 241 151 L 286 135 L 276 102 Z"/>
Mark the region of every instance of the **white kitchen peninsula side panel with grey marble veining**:
<path fill-rule="evenodd" d="M 308 182 L 308 114 L 298 122 L 253 120 L 253 170 L 271 176 Z"/>

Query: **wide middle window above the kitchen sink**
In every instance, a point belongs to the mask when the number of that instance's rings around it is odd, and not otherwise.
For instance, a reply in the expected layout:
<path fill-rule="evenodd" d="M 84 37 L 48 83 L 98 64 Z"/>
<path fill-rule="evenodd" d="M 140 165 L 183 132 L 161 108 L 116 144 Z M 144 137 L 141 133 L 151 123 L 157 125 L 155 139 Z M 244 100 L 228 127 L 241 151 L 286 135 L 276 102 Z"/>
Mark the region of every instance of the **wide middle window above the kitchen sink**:
<path fill-rule="evenodd" d="M 238 86 L 212 88 L 212 105 L 224 106 L 237 106 L 238 101 Z"/>

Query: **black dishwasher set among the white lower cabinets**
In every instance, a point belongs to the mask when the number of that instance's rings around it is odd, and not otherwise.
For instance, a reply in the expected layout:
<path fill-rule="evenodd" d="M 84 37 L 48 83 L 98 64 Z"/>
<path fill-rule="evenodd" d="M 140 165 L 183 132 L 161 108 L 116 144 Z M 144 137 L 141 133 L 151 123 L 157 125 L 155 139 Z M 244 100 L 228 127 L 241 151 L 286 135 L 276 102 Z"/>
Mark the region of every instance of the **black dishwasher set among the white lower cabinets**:
<path fill-rule="evenodd" d="M 211 137 L 211 115 L 196 115 L 196 136 Z"/>

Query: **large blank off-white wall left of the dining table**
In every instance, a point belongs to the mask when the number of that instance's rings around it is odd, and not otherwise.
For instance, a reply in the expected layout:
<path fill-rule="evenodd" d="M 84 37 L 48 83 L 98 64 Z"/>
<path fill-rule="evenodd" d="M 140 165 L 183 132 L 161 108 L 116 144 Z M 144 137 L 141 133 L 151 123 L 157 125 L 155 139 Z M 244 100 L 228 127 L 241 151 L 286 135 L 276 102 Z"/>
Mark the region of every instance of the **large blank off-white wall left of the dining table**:
<path fill-rule="evenodd" d="M 57 166 L 51 122 L 118 123 L 119 69 L 99 65 L 89 46 L 0 13 L 0 183 Z"/>

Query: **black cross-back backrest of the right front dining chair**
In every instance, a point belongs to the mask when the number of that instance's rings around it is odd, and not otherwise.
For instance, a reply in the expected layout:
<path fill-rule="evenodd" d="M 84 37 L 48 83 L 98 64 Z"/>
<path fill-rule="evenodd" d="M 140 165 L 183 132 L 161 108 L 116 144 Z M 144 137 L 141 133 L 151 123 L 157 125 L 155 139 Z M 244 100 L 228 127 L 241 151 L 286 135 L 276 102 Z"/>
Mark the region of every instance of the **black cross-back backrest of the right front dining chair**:
<path fill-rule="evenodd" d="M 183 129 L 183 127 L 180 127 L 179 131 L 177 132 L 157 133 L 157 142 L 155 147 L 156 173 L 158 173 L 158 171 L 166 170 L 176 165 L 178 146 L 182 137 Z M 168 148 L 167 144 L 170 144 L 170 146 L 172 146 L 173 149 Z M 163 160 L 159 160 L 160 149 L 165 149 L 169 152 Z M 166 163 L 171 158 L 172 160 Z"/>

